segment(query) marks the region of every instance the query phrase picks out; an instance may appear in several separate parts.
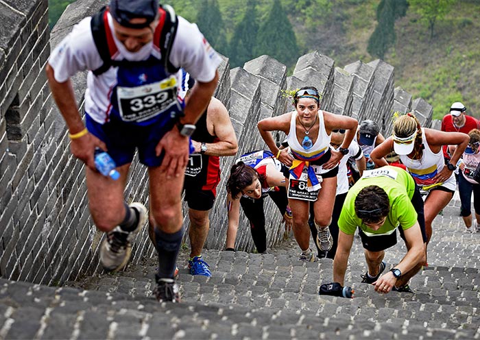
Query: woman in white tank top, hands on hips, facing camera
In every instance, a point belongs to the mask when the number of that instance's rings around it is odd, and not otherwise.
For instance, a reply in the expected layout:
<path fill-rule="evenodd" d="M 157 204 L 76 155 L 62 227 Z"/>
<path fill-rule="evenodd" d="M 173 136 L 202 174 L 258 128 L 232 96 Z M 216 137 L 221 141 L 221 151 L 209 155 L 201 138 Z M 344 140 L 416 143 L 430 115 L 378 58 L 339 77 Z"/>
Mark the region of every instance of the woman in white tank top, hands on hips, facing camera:
<path fill-rule="evenodd" d="M 309 247 L 309 202 L 315 211 L 318 231 L 315 241 L 320 250 L 326 252 L 333 245 L 328 226 L 337 190 L 338 164 L 348 154 L 358 122 L 351 117 L 320 110 L 320 95 L 311 86 L 296 91 L 293 106 L 295 110 L 263 119 L 257 126 L 272 153 L 289 167 L 287 193 L 293 211 L 293 235 L 302 250 L 300 259 L 315 260 Z M 337 129 L 346 130 L 339 151 L 330 148 L 331 132 Z M 285 132 L 289 147 L 278 149 L 272 131 Z"/>

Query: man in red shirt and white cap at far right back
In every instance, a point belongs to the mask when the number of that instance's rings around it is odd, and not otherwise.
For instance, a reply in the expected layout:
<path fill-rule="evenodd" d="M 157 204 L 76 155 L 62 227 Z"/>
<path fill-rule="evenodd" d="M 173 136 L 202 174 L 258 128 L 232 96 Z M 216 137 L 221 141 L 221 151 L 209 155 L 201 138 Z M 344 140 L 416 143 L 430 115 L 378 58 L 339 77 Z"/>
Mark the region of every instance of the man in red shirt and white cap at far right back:
<path fill-rule="evenodd" d="M 473 129 L 480 129 L 480 122 L 478 119 L 467 116 L 466 107 L 459 101 L 455 101 L 450 108 L 450 114 L 446 114 L 442 119 L 442 127 L 440 130 L 446 132 L 463 132 L 468 134 Z M 451 156 L 448 154 L 447 146 L 443 146 L 444 158 L 448 162 Z"/>

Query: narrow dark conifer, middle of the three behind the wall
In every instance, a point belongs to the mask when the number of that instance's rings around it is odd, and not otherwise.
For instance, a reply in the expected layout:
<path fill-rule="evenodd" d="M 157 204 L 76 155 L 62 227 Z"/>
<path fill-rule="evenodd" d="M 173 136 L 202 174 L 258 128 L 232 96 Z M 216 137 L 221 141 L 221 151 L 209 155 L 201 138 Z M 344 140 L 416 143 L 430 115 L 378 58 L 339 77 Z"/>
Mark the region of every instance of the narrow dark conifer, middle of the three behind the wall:
<path fill-rule="evenodd" d="M 259 25 L 256 22 L 257 15 L 255 9 L 255 1 L 248 0 L 246 4 L 246 12 L 240 23 L 235 27 L 232 39 L 230 40 L 230 48 L 228 56 L 230 57 L 230 67 L 243 66 L 246 61 L 254 58 L 254 48 L 256 42 L 256 33 Z"/>

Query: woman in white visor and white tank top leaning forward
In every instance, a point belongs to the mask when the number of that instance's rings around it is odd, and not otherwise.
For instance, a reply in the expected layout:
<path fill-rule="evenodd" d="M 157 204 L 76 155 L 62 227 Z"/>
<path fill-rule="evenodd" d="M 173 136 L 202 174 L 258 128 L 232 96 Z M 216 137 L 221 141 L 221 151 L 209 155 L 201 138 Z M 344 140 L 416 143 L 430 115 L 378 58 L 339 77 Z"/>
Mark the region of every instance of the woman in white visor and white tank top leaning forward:
<path fill-rule="evenodd" d="M 383 167 L 387 165 L 383 157 L 394 150 L 420 189 L 428 192 L 424 204 L 427 244 L 431 239 L 433 219 L 455 193 L 457 183 L 453 171 L 468 141 L 468 135 L 461 132 L 442 132 L 421 127 L 418 119 L 407 113 L 394 121 L 393 135 L 370 154 L 375 164 Z M 447 165 L 443 157 L 443 145 L 456 145 Z"/>

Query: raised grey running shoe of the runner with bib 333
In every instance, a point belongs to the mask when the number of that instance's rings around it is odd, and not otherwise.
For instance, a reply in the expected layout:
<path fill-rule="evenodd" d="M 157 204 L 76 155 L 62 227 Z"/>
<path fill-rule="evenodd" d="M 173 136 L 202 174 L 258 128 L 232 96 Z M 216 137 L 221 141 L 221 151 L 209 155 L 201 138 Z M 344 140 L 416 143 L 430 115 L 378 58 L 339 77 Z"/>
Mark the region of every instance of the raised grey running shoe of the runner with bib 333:
<path fill-rule="evenodd" d="M 100 263 L 106 271 L 119 271 L 127 265 L 132 254 L 132 240 L 147 221 L 147 208 L 139 202 L 130 204 L 139 213 L 139 222 L 131 232 L 126 232 L 120 226 L 106 234 L 100 246 Z"/>

